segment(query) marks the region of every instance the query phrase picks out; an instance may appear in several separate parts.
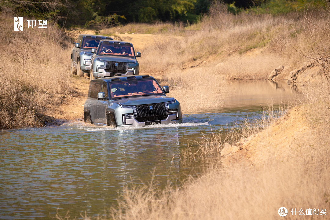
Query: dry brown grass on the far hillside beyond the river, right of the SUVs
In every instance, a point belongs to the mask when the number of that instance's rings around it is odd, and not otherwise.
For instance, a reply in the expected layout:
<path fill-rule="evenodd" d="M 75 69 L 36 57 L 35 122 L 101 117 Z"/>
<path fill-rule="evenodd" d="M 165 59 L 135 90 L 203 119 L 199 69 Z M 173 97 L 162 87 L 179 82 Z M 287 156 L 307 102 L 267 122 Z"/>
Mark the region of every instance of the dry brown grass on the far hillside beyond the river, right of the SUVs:
<path fill-rule="evenodd" d="M 211 13 L 199 24 L 185 28 L 182 39 L 153 40 L 141 58 L 143 72 L 174 75 L 197 61 L 223 63 L 218 72 L 240 79 L 265 79 L 279 65 L 305 61 L 292 46 L 299 44 L 295 30 L 299 16 L 232 15 Z M 152 63 L 153 65 L 148 65 Z"/>

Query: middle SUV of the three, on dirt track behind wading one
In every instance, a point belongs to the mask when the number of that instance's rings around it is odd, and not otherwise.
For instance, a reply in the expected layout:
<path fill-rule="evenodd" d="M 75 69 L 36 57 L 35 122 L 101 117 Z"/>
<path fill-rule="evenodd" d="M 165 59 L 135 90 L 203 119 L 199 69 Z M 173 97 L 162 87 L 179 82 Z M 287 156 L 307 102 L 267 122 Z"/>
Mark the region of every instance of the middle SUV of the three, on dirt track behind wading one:
<path fill-rule="evenodd" d="M 91 50 L 90 79 L 139 75 L 139 63 L 134 47 L 129 42 L 116 40 L 101 40 L 97 49 Z"/>

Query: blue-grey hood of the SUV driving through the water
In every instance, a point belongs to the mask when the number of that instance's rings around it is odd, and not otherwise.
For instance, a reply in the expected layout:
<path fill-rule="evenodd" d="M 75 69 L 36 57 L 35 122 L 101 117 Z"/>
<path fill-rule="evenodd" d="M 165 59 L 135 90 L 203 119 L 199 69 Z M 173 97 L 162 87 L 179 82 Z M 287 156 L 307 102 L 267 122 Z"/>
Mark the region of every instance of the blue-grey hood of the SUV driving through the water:
<path fill-rule="evenodd" d="M 152 96 L 140 96 L 134 98 L 123 98 L 114 100 L 114 103 L 122 104 L 124 106 L 135 106 L 135 105 L 148 105 L 153 103 L 171 102 L 172 97 L 152 95 Z"/>

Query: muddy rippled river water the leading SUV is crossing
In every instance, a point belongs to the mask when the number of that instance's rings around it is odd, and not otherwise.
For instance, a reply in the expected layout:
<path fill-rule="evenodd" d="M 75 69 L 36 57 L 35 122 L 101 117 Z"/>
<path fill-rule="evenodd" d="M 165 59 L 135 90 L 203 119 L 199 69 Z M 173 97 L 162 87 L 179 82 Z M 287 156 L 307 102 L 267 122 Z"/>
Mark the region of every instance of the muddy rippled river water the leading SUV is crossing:
<path fill-rule="evenodd" d="M 56 210 L 80 217 L 101 214 L 123 186 L 189 175 L 181 150 L 202 133 L 230 127 L 261 106 L 296 98 L 287 85 L 267 80 L 232 82 L 222 109 L 183 115 L 183 123 L 108 128 L 69 122 L 59 127 L 0 132 L 0 219 L 53 219 Z M 180 100 L 179 100 L 180 101 Z"/>

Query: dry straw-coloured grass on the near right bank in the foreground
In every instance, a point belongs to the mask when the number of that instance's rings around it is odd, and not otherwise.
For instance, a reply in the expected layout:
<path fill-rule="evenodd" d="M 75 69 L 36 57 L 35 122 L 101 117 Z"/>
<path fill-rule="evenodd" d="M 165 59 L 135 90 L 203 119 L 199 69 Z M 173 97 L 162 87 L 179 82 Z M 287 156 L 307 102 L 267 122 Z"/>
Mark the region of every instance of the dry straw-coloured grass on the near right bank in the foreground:
<path fill-rule="evenodd" d="M 293 134 L 292 138 L 303 138 L 296 139 L 292 145 L 276 149 L 280 146 L 272 143 L 274 134 L 264 132 L 262 139 L 256 143 L 268 144 L 263 146 L 264 150 L 256 152 L 262 154 L 258 155 L 263 158 L 262 163 L 251 166 L 248 160 L 241 160 L 226 167 L 215 166 L 198 179 L 186 180 L 180 188 L 168 186 L 166 190 L 159 190 L 155 184 L 126 187 L 118 200 L 119 207 L 112 209 L 104 219 L 218 219 L 219 216 L 221 219 L 278 219 L 277 212 L 282 206 L 289 211 L 288 219 L 311 219 L 308 215 L 292 215 L 292 209 L 303 209 L 306 213 L 307 208 L 322 208 L 328 212 L 330 97 L 323 89 L 327 84 L 324 82 L 314 84 L 313 90 L 304 89 L 305 99 L 300 100 L 303 105 L 299 112 L 308 115 L 307 124 L 312 127 L 301 135 L 295 130 L 297 134 Z M 254 127 L 247 123 L 248 126 L 239 129 L 237 134 L 249 136 L 274 122 L 279 127 L 283 124 L 281 132 L 287 131 L 284 123 L 290 118 L 277 120 L 278 115 L 274 112 L 266 114 L 271 120 L 265 117 Z M 301 122 L 296 120 L 293 123 Z M 222 135 L 215 132 L 210 137 L 203 137 L 204 141 L 199 146 L 205 150 L 212 147 L 221 149 L 216 146 L 223 143 Z M 200 154 L 189 149 L 191 155 L 188 156 L 198 159 Z M 279 152 L 285 153 L 279 155 Z M 251 155 L 249 159 L 253 160 Z M 312 216 L 313 219 L 327 219 L 327 215 Z"/>

